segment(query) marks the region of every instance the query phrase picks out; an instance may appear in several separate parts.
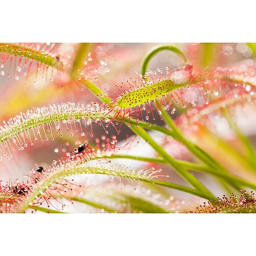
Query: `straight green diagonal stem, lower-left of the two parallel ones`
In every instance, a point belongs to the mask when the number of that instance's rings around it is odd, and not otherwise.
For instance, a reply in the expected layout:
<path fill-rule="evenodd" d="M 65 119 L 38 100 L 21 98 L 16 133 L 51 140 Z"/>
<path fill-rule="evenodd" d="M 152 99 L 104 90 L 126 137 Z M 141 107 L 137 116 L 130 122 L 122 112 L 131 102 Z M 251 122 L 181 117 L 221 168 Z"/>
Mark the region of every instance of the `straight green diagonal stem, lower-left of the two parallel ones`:
<path fill-rule="evenodd" d="M 171 157 L 166 151 L 163 150 L 163 148 L 158 145 L 150 136 L 149 134 L 147 134 L 147 132 L 141 128 L 138 127 L 136 128 L 136 126 L 134 124 L 131 124 L 130 126 L 131 130 L 135 132 L 135 134 L 141 136 L 141 138 L 143 138 L 145 141 L 147 141 L 147 143 L 153 147 L 154 150 L 156 150 L 156 152 L 163 157 L 163 159 L 165 159 L 171 166 L 173 166 L 173 168 L 184 178 L 186 179 L 186 181 L 188 181 L 191 185 L 193 185 L 196 189 L 198 189 L 199 191 L 202 191 L 208 195 L 210 195 L 210 197 L 214 198 L 214 196 L 211 194 L 210 191 L 208 191 L 207 188 L 205 188 L 205 186 L 203 184 L 201 184 L 197 178 L 195 178 L 191 173 L 189 173 L 189 171 L 187 171 L 185 168 L 183 168 L 182 166 L 180 166 L 179 164 L 176 163 L 175 159 L 173 159 L 173 157 Z"/>

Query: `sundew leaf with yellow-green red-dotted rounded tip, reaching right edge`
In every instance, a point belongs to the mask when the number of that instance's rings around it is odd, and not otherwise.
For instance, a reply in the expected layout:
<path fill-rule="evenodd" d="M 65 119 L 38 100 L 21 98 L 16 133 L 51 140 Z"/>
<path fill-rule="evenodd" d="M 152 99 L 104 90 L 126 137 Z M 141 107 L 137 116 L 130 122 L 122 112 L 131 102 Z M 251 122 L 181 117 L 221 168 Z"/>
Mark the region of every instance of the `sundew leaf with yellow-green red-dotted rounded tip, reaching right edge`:
<path fill-rule="evenodd" d="M 175 104 L 181 102 L 192 106 L 209 104 L 214 98 L 237 97 L 243 91 L 253 95 L 256 87 L 255 66 L 241 63 L 237 68 L 215 67 L 211 70 L 196 71 L 190 64 L 173 71 L 149 71 L 147 75 L 124 79 L 117 83 L 116 89 L 107 91 L 111 103 L 106 104 L 113 120 L 122 124 L 124 119 L 135 118 L 138 122 L 146 120 L 150 126 L 150 118 L 162 114 L 163 110 L 175 112 Z M 154 111 L 156 110 L 156 111 Z M 121 127 L 120 124 L 120 127 Z M 119 129 L 120 131 L 120 129 Z"/>

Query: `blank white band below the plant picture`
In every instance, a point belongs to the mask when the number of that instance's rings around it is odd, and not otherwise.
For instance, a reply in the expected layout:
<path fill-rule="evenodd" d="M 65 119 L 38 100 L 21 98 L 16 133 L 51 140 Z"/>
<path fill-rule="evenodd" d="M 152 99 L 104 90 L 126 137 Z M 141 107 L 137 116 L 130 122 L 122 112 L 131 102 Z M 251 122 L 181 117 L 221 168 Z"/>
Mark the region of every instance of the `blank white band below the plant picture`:
<path fill-rule="evenodd" d="M 253 214 L 1 214 L 0 223 L 2 255 L 243 255 L 255 244 Z"/>

